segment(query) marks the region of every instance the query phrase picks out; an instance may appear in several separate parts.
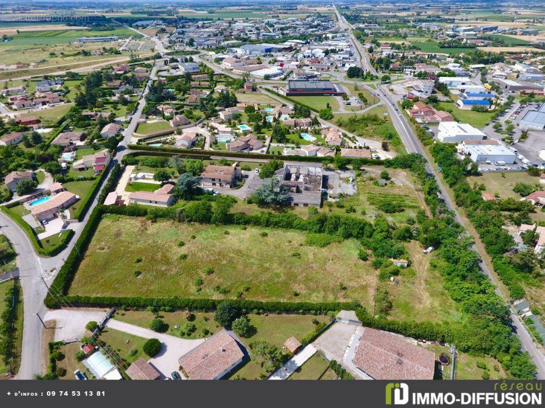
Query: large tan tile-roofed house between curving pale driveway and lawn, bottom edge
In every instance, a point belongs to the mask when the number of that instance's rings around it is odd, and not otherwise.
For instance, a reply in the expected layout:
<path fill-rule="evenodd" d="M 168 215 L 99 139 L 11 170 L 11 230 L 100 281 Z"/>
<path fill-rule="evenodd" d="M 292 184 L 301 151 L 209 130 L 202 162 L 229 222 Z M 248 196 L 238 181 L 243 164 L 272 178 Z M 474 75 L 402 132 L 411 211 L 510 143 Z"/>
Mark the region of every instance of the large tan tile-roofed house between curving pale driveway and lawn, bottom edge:
<path fill-rule="evenodd" d="M 237 341 L 220 330 L 204 343 L 181 356 L 178 363 L 190 380 L 219 380 L 244 358 Z"/>

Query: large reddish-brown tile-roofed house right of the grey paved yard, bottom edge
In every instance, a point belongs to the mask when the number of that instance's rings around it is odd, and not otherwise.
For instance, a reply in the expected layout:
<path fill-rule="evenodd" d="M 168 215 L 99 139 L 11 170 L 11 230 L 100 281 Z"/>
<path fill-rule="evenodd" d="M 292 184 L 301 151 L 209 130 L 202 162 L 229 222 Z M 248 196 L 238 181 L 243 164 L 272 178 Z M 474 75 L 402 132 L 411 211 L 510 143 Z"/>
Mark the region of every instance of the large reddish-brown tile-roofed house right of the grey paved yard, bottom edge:
<path fill-rule="evenodd" d="M 353 368 L 373 380 L 433 380 L 435 354 L 401 336 L 365 327 Z"/>

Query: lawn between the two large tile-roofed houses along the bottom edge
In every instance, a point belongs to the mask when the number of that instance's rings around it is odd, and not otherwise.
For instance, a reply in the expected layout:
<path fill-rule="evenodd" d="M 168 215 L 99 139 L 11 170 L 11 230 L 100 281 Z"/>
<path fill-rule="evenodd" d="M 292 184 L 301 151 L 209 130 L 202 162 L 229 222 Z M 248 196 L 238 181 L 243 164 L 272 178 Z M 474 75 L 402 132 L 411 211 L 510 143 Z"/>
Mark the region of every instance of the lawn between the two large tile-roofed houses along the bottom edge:
<path fill-rule="evenodd" d="M 282 348 L 284 342 L 294 336 L 301 341 L 305 335 L 314 329 L 313 319 L 319 322 L 328 322 L 326 316 L 309 316 L 298 314 L 269 314 L 269 316 L 250 314 L 250 324 L 255 327 L 255 333 L 249 338 L 240 338 L 240 341 L 245 345 L 250 353 L 250 361 L 247 361 L 239 370 L 234 372 L 231 379 L 258 379 L 259 374 L 265 373 L 265 370 L 260 366 L 256 359 L 252 356 L 250 343 L 257 340 L 264 340 L 268 343 Z"/>

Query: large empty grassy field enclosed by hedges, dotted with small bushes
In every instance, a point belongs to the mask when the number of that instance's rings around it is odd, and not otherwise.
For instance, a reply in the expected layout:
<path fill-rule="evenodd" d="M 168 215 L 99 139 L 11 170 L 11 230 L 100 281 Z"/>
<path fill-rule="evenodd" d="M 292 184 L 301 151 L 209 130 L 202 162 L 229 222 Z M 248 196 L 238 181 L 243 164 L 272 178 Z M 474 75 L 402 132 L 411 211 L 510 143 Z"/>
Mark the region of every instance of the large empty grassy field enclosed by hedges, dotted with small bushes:
<path fill-rule="evenodd" d="M 304 242 L 305 233 L 294 230 L 107 215 L 69 293 L 223 299 L 241 292 L 256 300 L 370 305 L 377 274 L 358 259 L 358 241 L 325 248 Z"/>

